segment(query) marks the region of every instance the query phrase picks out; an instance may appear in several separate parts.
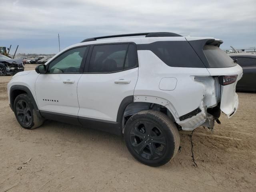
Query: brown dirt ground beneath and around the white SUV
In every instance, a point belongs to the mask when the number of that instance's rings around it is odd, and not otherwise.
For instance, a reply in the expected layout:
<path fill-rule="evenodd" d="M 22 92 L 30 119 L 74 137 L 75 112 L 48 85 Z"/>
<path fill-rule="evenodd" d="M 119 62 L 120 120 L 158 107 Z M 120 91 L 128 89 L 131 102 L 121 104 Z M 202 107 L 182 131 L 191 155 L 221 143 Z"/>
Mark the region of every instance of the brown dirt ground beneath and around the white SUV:
<path fill-rule="evenodd" d="M 256 191 L 256 93 L 239 92 L 237 113 L 222 115 L 213 132 L 194 131 L 197 168 L 191 132 L 184 131 L 181 152 L 153 168 L 136 161 L 118 136 L 54 121 L 22 128 L 8 104 L 10 79 L 0 77 L 0 192 L 17 183 L 8 192 Z"/>

